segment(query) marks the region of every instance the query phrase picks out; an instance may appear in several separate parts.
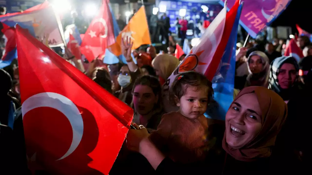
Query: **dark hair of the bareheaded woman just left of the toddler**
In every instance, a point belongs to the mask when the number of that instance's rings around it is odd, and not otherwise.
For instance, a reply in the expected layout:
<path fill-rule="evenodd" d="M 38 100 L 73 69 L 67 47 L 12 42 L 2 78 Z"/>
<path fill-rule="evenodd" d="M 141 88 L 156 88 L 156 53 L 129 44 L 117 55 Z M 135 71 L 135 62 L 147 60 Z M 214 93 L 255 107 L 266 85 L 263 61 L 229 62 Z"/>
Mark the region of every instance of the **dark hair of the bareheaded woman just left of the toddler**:
<path fill-rule="evenodd" d="M 163 100 L 161 98 L 161 86 L 160 86 L 160 83 L 156 77 L 153 77 L 150 75 L 144 75 L 144 76 L 138 77 L 134 82 L 134 85 L 132 88 L 132 93 L 134 92 L 134 88 L 139 84 L 140 85 L 146 85 L 146 86 L 150 87 L 153 90 L 154 95 L 155 96 L 158 95 L 158 102 L 157 102 L 156 106 L 157 107 L 162 106 L 161 104 L 162 104 Z"/>

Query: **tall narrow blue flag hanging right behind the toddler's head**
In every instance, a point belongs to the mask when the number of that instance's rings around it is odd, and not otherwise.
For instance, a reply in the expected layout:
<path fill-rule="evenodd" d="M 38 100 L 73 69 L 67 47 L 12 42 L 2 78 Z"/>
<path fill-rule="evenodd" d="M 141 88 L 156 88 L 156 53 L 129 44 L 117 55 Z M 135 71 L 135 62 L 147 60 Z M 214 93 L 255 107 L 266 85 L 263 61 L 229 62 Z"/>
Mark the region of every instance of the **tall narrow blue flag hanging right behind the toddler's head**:
<path fill-rule="evenodd" d="M 237 29 L 241 10 L 242 4 L 238 7 L 230 38 L 216 74 L 212 79 L 214 101 L 209 104 L 205 113 L 208 118 L 225 120 L 225 114 L 233 101 Z"/>

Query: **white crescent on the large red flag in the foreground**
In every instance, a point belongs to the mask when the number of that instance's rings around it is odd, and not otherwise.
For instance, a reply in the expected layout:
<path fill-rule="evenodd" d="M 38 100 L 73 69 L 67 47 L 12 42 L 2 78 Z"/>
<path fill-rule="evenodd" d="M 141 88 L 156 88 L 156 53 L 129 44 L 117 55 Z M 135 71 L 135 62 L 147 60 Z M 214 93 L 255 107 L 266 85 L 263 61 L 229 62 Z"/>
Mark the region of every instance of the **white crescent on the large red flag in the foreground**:
<path fill-rule="evenodd" d="M 66 107 L 64 105 L 66 105 Z M 31 111 L 38 107 L 54 108 L 63 113 L 69 120 L 73 131 L 73 140 L 68 151 L 57 160 L 68 157 L 71 153 L 75 151 L 82 139 L 84 126 L 80 111 L 69 98 L 54 92 L 42 92 L 33 95 L 25 100 L 22 105 L 22 117 L 24 118 L 25 114 L 28 111 Z"/>

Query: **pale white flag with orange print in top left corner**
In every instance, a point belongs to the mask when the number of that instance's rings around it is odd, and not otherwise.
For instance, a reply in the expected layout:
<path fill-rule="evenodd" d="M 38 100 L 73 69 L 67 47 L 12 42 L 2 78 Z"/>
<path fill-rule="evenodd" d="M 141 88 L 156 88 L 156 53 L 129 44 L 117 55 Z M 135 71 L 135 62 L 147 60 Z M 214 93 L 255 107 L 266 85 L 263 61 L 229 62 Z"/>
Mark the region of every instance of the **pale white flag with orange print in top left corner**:
<path fill-rule="evenodd" d="M 50 46 L 63 44 L 55 13 L 47 1 L 24 12 L 1 15 L 0 21 L 10 27 L 18 24 L 37 39 L 46 40 Z"/>

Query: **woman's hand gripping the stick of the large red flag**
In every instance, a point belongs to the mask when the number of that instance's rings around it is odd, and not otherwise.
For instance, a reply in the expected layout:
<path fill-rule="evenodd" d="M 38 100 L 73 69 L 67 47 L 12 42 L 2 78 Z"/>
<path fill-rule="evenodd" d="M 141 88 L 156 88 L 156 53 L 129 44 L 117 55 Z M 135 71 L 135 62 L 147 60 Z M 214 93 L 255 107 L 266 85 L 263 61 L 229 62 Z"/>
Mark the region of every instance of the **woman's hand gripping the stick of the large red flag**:
<path fill-rule="evenodd" d="M 146 130 L 146 128 L 143 126 L 143 125 L 137 125 L 135 123 L 131 123 L 135 128 L 136 130 L 134 129 L 130 129 L 128 131 L 128 134 L 127 134 L 127 137 L 126 137 L 126 140 L 127 140 L 127 147 L 129 150 L 131 151 L 135 151 L 135 152 L 139 152 L 139 145 L 140 145 L 140 142 L 143 140 L 143 139 L 146 139 L 149 137 L 149 133 L 148 131 Z"/>

